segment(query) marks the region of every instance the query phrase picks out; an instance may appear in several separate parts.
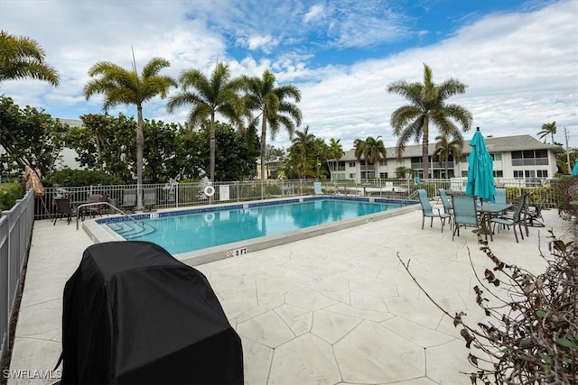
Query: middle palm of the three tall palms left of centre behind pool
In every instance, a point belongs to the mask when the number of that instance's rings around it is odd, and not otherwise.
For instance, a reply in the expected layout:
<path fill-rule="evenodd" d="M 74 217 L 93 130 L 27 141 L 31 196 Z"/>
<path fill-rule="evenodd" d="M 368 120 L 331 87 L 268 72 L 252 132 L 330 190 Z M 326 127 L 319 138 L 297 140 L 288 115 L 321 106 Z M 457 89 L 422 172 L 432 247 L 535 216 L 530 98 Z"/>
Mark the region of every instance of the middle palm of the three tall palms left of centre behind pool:
<path fill-rule="evenodd" d="M 182 91 L 169 99 L 168 110 L 173 112 L 182 105 L 191 105 L 189 114 L 191 126 L 201 124 L 210 116 L 210 181 L 215 181 L 215 115 L 227 117 L 231 123 L 242 126 L 239 111 L 242 109 L 238 91 L 242 87 L 241 78 L 231 79 L 228 66 L 219 63 L 207 78 L 198 69 L 185 70 L 179 78 Z"/>

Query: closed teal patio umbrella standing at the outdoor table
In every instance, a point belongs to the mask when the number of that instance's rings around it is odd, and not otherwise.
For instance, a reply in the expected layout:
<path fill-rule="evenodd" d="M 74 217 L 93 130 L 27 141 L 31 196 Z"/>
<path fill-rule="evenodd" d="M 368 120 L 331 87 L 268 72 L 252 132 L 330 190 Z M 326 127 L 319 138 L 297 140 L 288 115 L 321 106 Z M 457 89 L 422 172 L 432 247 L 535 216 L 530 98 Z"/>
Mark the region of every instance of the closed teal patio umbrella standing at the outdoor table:
<path fill-rule="evenodd" d="M 494 166 L 480 127 L 470 141 L 471 153 L 468 156 L 468 186 L 466 194 L 480 197 L 483 200 L 494 201 L 496 188 L 494 186 Z"/>

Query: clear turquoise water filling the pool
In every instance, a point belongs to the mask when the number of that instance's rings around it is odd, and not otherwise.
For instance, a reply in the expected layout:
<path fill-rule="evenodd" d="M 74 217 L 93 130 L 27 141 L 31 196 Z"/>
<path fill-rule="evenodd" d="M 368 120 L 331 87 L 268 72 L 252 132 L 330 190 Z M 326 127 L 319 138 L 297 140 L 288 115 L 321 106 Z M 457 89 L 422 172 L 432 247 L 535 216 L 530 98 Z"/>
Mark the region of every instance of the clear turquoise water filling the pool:
<path fill-rule="evenodd" d="M 127 240 L 160 244 L 168 252 L 192 252 L 305 227 L 375 214 L 403 206 L 402 203 L 369 203 L 359 200 L 315 199 L 303 202 L 242 205 L 202 213 L 161 216 L 139 220 L 144 231 L 131 231 L 129 222 L 107 225 Z M 146 231 L 148 229 L 148 231 Z"/>

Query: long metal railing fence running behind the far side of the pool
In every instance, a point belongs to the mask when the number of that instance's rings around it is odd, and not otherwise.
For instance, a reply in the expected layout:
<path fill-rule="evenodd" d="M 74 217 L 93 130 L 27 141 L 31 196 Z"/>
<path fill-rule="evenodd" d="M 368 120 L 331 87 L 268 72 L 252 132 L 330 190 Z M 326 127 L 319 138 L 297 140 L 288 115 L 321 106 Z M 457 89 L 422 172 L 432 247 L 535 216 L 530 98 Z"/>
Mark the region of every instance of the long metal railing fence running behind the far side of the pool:
<path fill-rule="evenodd" d="M 177 183 L 145 184 L 140 193 L 143 197 L 144 208 L 170 208 L 183 206 L 201 206 L 247 200 L 270 199 L 275 197 L 294 197 L 313 195 L 314 179 L 281 180 L 269 179 L 263 183 L 260 180 L 242 180 L 216 182 L 208 187 L 207 183 Z M 553 180 L 536 181 L 526 179 L 495 179 L 496 186 L 507 188 L 508 199 L 516 201 L 522 192 L 531 193 L 531 198 L 539 200 L 542 197 L 542 188 L 550 188 Z M 365 179 L 361 182 L 352 180 L 329 181 L 323 180 L 322 193 L 327 195 L 348 195 L 364 197 L 387 197 L 392 199 L 416 198 L 415 190 L 424 188 L 429 197 L 438 195 L 438 188 L 450 191 L 464 192 L 466 179 L 422 179 L 415 184 L 414 179 Z M 89 196 L 99 195 L 107 198 L 108 203 L 123 211 L 132 208 L 127 197 L 135 197 L 136 185 L 120 186 L 87 186 L 45 188 L 46 195 L 37 199 L 34 217 L 48 218 L 56 212 L 52 203 L 54 198 L 68 197 L 72 206 L 79 206 L 89 201 Z M 213 193 L 206 194 L 206 192 Z M 558 197 L 548 194 L 547 207 L 555 207 Z"/>

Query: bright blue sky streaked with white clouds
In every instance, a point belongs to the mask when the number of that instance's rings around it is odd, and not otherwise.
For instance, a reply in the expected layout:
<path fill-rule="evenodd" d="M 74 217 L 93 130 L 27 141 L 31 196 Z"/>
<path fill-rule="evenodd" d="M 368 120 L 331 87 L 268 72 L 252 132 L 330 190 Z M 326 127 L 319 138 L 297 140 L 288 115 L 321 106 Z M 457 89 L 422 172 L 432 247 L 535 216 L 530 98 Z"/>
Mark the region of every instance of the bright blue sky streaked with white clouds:
<path fill-rule="evenodd" d="M 298 130 L 344 150 L 368 136 L 395 146 L 389 120 L 407 101 L 387 86 L 423 82 L 426 64 L 436 84 L 467 85 L 447 99 L 473 115 L 466 140 L 477 126 L 537 138 L 555 122 L 555 142 L 565 147 L 565 128 L 578 147 L 578 0 L 0 0 L 0 28 L 38 41 L 61 77 L 59 87 L 5 81 L 0 94 L 55 118 L 102 113 L 102 97 L 82 93 L 89 68 L 131 69 L 134 50 L 137 69 L 161 57 L 171 62 L 161 74 L 174 78 L 187 69 L 210 76 L 217 61 L 233 76 L 272 70 L 277 85 L 301 90 Z M 169 114 L 166 101 L 147 102 L 144 117 L 184 123 L 189 108 Z M 136 115 L 134 105 L 109 113 Z M 267 143 L 291 144 L 283 130 Z"/>

